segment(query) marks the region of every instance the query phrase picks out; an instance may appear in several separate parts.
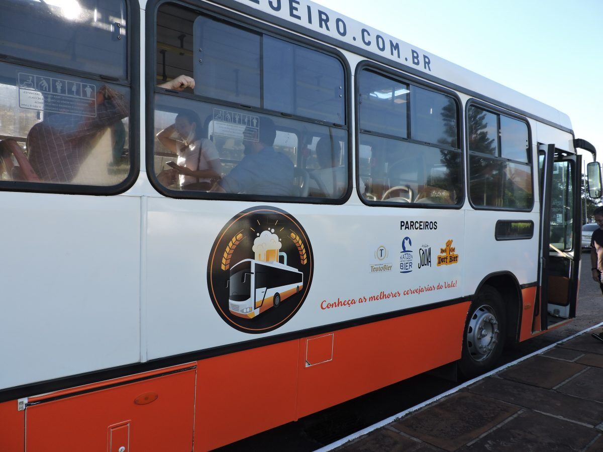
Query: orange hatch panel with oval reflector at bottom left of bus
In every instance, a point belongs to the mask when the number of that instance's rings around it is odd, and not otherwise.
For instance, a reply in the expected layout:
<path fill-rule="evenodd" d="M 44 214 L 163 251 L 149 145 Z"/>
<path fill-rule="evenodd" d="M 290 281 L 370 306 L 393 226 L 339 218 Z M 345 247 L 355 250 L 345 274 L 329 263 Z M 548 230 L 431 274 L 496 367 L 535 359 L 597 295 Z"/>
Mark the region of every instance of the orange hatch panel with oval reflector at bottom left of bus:
<path fill-rule="evenodd" d="M 27 452 L 190 452 L 194 400 L 190 369 L 28 406 Z"/>

